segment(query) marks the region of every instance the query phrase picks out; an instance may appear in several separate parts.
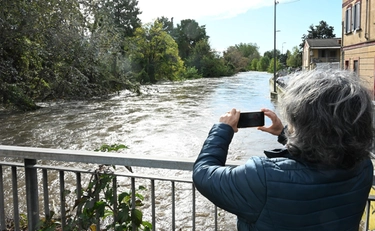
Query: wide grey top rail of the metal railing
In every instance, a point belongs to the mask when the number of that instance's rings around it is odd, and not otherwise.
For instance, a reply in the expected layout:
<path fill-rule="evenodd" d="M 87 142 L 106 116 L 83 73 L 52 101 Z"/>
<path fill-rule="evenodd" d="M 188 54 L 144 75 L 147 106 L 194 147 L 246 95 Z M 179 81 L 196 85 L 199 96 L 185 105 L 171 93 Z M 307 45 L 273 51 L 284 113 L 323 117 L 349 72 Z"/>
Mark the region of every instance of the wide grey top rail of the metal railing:
<path fill-rule="evenodd" d="M 192 170 L 195 159 L 0 145 L 0 157 Z M 240 162 L 228 161 L 228 166 Z"/>

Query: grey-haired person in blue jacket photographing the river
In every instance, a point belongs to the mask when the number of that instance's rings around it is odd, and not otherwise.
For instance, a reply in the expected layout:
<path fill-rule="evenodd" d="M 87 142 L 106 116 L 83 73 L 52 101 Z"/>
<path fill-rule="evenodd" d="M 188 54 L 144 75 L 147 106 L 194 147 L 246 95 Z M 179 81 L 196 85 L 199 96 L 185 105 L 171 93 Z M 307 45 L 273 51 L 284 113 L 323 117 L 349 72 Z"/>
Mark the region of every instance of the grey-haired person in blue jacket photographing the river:
<path fill-rule="evenodd" d="M 258 129 L 279 135 L 285 149 L 226 167 L 240 115 L 232 109 L 204 142 L 194 164 L 196 188 L 237 215 L 241 231 L 357 231 L 373 180 L 366 88 L 349 72 L 311 71 L 290 80 L 281 102 L 287 131 L 267 109 L 272 125 Z"/>

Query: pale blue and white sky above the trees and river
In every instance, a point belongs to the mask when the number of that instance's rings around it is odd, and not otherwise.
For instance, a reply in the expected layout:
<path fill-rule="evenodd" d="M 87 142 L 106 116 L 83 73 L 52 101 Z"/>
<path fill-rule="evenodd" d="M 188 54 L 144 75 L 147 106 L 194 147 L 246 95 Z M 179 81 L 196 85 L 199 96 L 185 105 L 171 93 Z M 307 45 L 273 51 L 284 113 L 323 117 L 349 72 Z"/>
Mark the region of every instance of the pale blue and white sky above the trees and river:
<path fill-rule="evenodd" d="M 218 51 L 239 43 L 255 43 L 259 51 L 273 49 L 274 0 L 138 0 L 143 23 L 157 17 L 194 19 L 206 26 L 211 47 Z M 310 25 L 324 20 L 341 37 L 342 0 L 279 0 L 276 5 L 276 48 L 298 46 Z"/>

